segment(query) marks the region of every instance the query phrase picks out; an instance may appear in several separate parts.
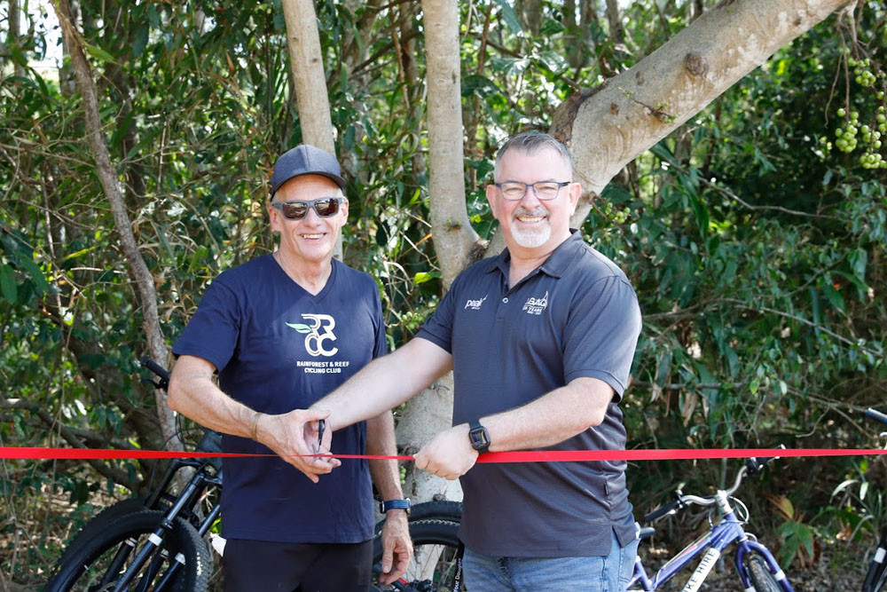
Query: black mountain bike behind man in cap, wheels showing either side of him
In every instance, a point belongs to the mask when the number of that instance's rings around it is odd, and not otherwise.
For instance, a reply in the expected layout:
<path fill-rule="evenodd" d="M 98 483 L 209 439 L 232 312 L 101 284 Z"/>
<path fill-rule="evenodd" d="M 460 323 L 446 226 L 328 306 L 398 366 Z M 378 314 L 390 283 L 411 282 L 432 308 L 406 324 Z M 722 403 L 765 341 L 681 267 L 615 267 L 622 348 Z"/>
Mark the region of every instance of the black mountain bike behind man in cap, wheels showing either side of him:
<path fill-rule="evenodd" d="M 151 359 L 142 359 L 159 380 L 147 381 L 166 389 L 169 372 Z M 205 430 L 199 452 L 221 452 L 221 435 Z M 179 471 L 190 478 L 179 493 L 173 485 Z M 212 560 L 205 537 L 219 517 L 223 480 L 221 459 L 173 459 L 163 477 L 145 498 L 132 498 L 104 509 L 83 526 L 59 557 L 46 592 L 90 590 L 139 592 L 208 589 Z M 415 549 L 410 570 L 389 586 L 377 590 L 448 590 L 455 570 L 456 531 L 461 504 L 428 501 L 413 506 L 410 534 Z M 381 527 L 373 539 L 373 580 L 381 572 Z"/>

